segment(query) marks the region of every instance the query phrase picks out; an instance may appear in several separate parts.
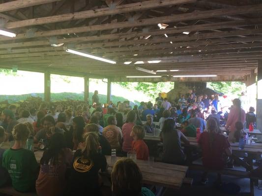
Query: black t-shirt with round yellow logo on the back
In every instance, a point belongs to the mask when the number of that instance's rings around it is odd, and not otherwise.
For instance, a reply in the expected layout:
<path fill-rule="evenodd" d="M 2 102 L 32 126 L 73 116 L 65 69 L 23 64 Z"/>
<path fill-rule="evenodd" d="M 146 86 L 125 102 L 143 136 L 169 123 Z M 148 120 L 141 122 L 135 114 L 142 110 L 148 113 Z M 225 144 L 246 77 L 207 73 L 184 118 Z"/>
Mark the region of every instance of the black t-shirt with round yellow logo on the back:
<path fill-rule="evenodd" d="M 98 172 L 105 172 L 107 167 L 106 157 L 96 153 L 90 158 L 81 150 L 74 154 L 73 166 L 70 176 L 70 195 L 95 195 L 99 188 Z"/>

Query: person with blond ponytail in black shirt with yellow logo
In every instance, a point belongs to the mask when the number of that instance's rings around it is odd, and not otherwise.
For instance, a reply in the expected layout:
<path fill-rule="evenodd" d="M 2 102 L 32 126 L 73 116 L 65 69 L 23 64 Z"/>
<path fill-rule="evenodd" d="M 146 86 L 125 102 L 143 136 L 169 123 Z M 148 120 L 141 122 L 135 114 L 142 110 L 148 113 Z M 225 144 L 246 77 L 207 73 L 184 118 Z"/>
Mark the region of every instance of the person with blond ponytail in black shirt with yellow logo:
<path fill-rule="evenodd" d="M 105 172 L 106 157 L 98 152 L 98 135 L 87 133 L 83 149 L 77 149 L 70 176 L 70 195 L 101 196 L 98 172 Z"/>

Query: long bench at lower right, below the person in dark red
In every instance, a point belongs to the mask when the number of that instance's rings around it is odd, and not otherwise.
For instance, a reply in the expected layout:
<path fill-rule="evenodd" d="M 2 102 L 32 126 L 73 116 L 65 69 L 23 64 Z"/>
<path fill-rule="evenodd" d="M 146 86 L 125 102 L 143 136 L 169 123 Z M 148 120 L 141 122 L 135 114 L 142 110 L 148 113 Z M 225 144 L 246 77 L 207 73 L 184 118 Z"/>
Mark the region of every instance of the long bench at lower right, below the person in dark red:
<path fill-rule="evenodd" d="M 189 170 L 200 170 L 200 171 L 209 172 L 209 173 L 220 173 L 222 175 L 230 175 L 230 176 L 236 176 L 240 178 L 249 178 L 250 179 L 250 196 L 254 196 L 255 181 L 262 180 L 262 177 L 251 177 L 250 172 L 238 171 L 238 170 L 233 170 L 233 169 L 223 169 L 220 171 L 209 170 L 209 169 L 204 168 L 203 165 L 199 165 L 199 164 L 190 165 Z"/>

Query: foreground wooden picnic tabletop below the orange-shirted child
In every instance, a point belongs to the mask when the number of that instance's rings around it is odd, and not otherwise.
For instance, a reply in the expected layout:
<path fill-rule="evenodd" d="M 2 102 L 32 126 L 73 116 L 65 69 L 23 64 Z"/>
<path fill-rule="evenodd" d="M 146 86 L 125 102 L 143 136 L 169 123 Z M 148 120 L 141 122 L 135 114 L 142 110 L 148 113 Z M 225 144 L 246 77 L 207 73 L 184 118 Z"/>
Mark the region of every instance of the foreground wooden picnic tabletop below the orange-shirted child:
<path fill-rule="evenodd" d="M 112 172 L 111 156 L 106 156 L 109 165 L 108 171 Z M 121 159 L 122 157 L 117 157 Z M 179 166 L 167 163 L 154 162 L 153 167 L 149 167 L 148 161 L 137 160 L 143 174 L 143 182 L 151 185 L 159 185 L 166 188 L 180 189 L 183 179 L 188 171 L 187 166 Z"/>

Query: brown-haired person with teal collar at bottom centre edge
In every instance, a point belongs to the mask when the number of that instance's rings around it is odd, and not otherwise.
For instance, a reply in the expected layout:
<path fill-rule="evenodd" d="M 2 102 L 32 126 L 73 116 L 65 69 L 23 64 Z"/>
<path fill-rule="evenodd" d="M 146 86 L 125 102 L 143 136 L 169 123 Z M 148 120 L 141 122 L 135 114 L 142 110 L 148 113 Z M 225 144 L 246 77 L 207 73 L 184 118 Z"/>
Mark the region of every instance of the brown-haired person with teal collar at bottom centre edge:
<path fill-rule="evenodd" d="M 128 158 L 116 161 L 111 173 L 114 196 L 154 196 L 142 187 L 143 176 L 137 164 Z"/>

